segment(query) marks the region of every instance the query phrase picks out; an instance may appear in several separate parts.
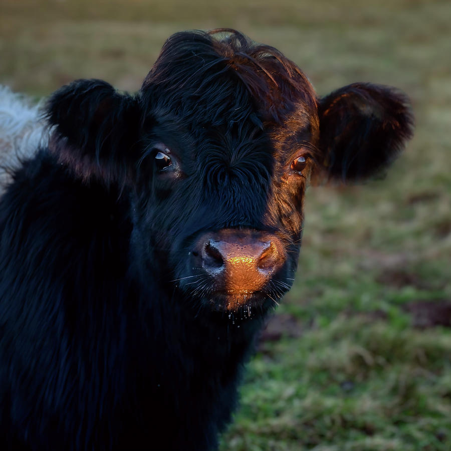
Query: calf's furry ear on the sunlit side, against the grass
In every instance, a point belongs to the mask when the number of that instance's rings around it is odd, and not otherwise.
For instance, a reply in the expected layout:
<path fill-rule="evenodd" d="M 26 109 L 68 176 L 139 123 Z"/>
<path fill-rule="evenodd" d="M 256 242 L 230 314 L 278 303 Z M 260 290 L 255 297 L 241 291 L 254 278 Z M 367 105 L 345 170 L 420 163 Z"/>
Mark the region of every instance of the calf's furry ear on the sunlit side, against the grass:
<path fill-rule="evenodd" d="M 330 179 L 359 181 L 379 173 L 413 134 L 410 103 L 402 92 L 354 83 L 320 99 L 319 148 Z"/>

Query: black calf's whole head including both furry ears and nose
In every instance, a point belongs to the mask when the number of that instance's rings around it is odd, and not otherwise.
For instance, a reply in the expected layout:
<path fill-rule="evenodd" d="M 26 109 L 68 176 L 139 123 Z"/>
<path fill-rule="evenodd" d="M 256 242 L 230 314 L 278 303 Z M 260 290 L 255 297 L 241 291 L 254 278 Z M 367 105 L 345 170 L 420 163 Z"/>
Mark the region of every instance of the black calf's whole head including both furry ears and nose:
<path fill-rule="evenodd" d="M 365 179 L 412 130 L 395 89 L 319 98 L 279 51 L 233 30 L 170 37 L 135 96 L 79 80 L 48 111 L 60 161 L 130 196 L 143 283 L 225 315 L 265 312 L 291 287 L 312 177 Z"/>

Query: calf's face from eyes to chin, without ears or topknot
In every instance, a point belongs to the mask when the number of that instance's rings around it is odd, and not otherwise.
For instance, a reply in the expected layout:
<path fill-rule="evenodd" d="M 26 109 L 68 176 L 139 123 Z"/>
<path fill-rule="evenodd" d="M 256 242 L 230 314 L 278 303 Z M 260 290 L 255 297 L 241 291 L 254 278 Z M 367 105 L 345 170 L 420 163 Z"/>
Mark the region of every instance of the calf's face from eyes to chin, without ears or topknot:
<path fill-rule="evenodd" d="M 215 310 L 275 304 L 297 266 L 307 149 L 276 148 L 249 117 L 238 126 L 193 119 L 146 140 L 134 196 L 141 258 Z M 199 132 L 180 138 L 191 126 Z"/>

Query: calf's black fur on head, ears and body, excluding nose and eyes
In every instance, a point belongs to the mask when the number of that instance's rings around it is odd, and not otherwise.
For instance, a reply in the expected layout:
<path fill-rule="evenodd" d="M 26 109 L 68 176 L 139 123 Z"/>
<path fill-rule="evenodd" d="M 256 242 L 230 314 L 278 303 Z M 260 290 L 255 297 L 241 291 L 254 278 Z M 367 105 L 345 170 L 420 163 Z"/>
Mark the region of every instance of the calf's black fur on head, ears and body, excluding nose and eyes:
<path fill-rule="evenodd" d="M 280 52 L 219 30 L 169 38 L 135 96 L 80 80 L 47 110 L 49 147 L 0 200 L 2 449 L 215 449 L 291 286 L 307 179 L 387 164 L 406 99 L 351 85 L 318 101 Z M 224 229 L 282 243 L 261 292 L 218 293 L 192 268 Z"/>

